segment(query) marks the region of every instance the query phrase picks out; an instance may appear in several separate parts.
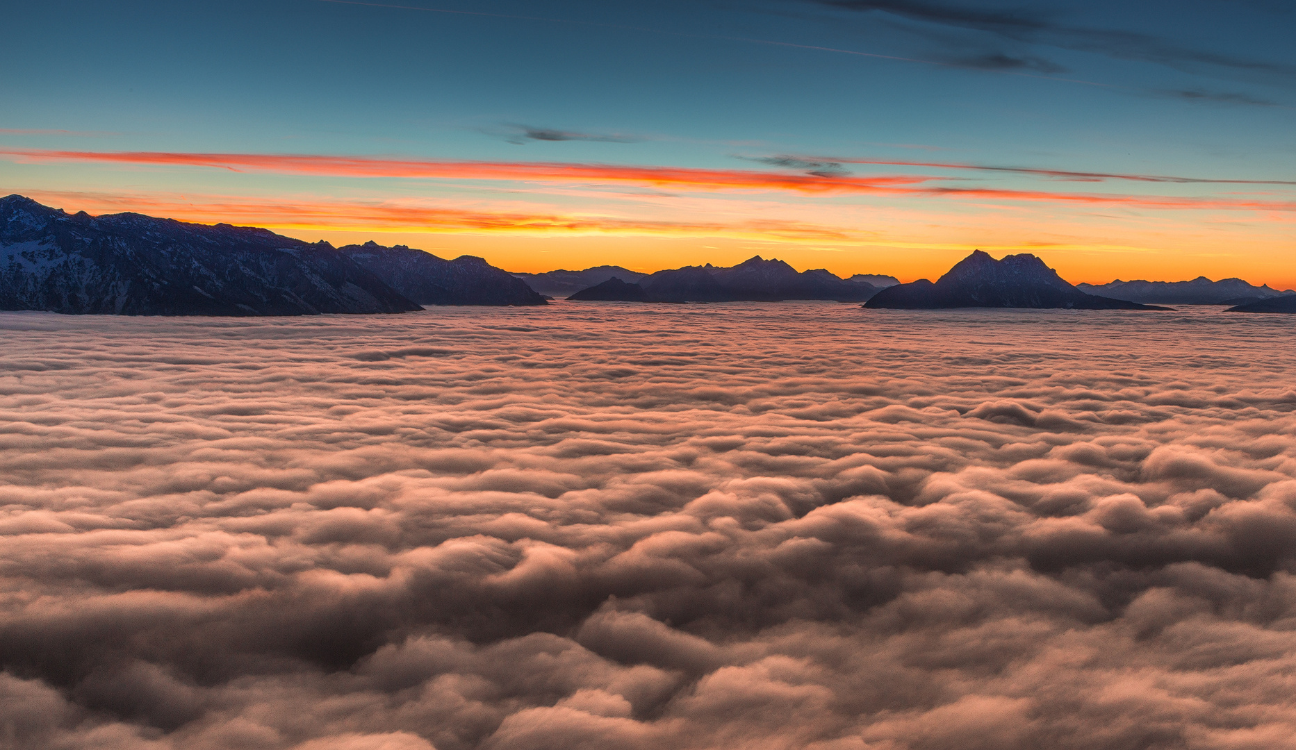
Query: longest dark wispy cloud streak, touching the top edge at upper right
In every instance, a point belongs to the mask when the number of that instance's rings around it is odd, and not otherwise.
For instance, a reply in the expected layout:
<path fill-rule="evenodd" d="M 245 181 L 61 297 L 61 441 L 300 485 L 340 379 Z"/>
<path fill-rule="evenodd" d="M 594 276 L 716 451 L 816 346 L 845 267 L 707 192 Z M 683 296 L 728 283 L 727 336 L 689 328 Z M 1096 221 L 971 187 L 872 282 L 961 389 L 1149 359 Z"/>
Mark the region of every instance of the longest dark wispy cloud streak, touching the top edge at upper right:
<path fill-rule="evenodd" d="M 1217 69 L 1269 74 L 1290 78 L 1296 67 L 1264 60 L 1238 57 L 1208 49 L 1116 28 L 1073 26 L 1056 10 L 1039 6 L 984 8 L 934 3 L 928 0 L 807 0 L 861 13 L 885 13 L 896 18 L 931 25 L 934 28 L 958 28 L 982 32 L 1015 43 L 1045 44 L 1064 49 L 1094 52 L 1124 60 L 1156 62 L 1177 69 L 1201 71 Z M 991 58 L 998 53 L 991 53 Z M 1007 57 L 1015 57 L 1004 53 Z M 1052 65 L 1052 63 L 1048 63 Z"/>

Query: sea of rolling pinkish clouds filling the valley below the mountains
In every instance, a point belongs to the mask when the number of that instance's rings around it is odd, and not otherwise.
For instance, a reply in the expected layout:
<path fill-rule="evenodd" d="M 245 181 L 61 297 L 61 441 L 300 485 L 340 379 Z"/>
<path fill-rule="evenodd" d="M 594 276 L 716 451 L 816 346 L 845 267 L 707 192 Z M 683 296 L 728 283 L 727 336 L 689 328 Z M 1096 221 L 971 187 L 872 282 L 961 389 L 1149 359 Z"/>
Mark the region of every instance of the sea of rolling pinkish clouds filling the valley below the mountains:
<path fill-rule="evenodd" d="M 0 315 L 0 747 L 1296 747 L 1291 316 Z"/>

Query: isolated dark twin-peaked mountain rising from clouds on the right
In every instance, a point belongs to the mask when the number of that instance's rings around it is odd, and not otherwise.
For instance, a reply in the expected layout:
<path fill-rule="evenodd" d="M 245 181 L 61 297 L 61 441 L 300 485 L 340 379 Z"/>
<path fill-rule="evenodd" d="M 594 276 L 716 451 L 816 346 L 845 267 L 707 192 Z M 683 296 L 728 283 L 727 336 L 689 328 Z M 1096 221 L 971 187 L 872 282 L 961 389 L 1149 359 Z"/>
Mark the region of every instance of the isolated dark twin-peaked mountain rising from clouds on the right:
<path fill-rule="evenodd" d="M 1029 254 L 1002 260 L 976 250 L 941 276 L 936 284 L 921 278 L 889 286 L 864 307 L 934 310 L 949 307 L 1067 307 L 1074 310 L 1165 310 L 1085 294 L 1058 272 Z"/>

